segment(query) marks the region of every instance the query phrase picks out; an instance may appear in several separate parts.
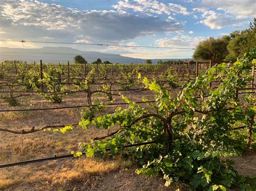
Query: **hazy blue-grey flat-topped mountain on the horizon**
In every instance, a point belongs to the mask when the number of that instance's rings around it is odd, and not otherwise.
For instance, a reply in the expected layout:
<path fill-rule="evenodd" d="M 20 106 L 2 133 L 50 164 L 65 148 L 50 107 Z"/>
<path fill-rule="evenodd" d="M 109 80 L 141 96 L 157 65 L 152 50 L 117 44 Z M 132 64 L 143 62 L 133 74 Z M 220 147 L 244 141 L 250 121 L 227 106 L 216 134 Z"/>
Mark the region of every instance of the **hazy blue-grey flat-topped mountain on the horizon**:
<path fill-rule="evenodd" d="M 21 60 L 21 61 L 39 61 L 43 62 L 73 62 L 76 55 L 82 55 L 89 63 L 100 58 L 102 61 L 109 60 L 112 63 L 145 63 L 146 59 L 136 59 L 119 54 L 108 54 L 101 52 L 79 51 L 70 47 L 43 47 L 43 48 L 8 48 L 0 47 L 0 61 L 4 60 Z M 152 59 L 157 63 L 159 59 Z M 192 60 L 187 59 L 161 59 L 167 60 Z"/>

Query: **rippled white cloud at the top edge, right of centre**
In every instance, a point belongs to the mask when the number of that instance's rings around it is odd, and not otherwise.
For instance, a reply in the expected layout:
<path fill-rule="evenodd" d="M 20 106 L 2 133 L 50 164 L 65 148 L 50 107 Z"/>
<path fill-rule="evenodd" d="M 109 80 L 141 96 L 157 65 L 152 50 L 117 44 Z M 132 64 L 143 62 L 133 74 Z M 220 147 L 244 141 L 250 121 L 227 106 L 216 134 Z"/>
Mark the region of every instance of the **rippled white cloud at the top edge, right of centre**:
<path fill-rule="evenodd" d="M 161 3 L 156 0 L 125 0 L 119 1 L 117 5 L 113 5 L 114 9 L 117 9 L 120 13 L 126 13 L 128 9 L 132 9 L 134 12 L 142 13 L 155 13 L 158 15 L 166 14 L 171 15 L 171 13 L 180 13 L 183 15 L 190 15 L 182 5 L 174 3 Z M 174 14 L 173 14 L 174 15 Z"/>

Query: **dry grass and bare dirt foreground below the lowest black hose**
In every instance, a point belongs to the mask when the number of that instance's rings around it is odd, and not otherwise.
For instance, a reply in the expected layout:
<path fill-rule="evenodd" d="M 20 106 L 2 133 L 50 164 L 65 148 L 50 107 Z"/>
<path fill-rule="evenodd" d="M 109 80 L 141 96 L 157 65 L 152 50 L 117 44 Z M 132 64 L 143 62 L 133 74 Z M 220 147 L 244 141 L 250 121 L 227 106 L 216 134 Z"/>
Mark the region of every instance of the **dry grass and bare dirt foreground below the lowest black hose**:
<path fill-rule="evenodd" d="M 120 159 L 80 157 L 1 170 L 0 190 L 175 190 L 160 177 L 134 173 L 134 164 Z"/>

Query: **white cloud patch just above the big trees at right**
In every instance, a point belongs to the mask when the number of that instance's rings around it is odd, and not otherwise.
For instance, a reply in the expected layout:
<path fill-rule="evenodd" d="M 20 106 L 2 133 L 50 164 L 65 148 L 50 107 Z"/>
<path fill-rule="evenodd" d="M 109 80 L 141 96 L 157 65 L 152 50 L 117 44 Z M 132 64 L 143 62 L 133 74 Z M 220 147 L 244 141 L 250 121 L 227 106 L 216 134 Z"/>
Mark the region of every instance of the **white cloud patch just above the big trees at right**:
<path fill-rule="evenodd" d="M 193 11 L 201 12 L 199 23 L 209 26 L 211 29 L 223 29 L 228 26 L 241 26 L 246 23 L 246 18 L 239 18 L 228 13 L 217 13 L 205 8 L 194 8 Z"/>

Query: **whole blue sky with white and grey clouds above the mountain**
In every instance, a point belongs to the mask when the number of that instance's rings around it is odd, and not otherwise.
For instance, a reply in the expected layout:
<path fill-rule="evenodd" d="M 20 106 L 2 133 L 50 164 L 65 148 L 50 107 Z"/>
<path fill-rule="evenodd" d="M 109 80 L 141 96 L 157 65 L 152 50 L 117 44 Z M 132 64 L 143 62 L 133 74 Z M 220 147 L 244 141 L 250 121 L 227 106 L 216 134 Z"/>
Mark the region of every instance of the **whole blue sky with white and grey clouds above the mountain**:
<path fill-rule="evenodd" d="M 0 39 L 195 48 L 209 37 L 246 29 L 255 9 L 255 0 L 0 0 Z M 4 41 L 0 46 L 68 46 L 143 59 L 193 55 L 193 49 L 176 48 Z"/>

